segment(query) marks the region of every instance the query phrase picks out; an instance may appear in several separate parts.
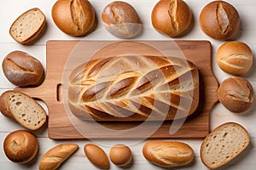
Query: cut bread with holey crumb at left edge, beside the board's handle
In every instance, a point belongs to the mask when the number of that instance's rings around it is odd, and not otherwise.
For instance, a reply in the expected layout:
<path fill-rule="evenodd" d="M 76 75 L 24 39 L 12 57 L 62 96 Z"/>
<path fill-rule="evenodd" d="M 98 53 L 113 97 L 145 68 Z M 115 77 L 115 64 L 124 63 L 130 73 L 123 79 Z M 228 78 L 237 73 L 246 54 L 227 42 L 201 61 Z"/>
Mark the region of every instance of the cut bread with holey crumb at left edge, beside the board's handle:
<path fill-rule="evenodd" d="M 29 130 L 37 130 L 47 120 L 44 108 L 37 101 L 15 90 L 6 91 L 1 95 L 0 111 Z"/>

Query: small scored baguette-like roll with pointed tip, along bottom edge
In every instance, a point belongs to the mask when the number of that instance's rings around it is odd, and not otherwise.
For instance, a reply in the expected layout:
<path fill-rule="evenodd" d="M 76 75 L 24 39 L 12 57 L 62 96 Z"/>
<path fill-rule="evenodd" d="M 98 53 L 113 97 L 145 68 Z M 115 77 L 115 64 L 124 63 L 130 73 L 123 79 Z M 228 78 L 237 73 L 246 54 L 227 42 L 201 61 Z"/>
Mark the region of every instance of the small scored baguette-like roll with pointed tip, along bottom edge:
<path fill-rule="evenodd" d="M 76 150 L 78 144 L 59 144 L 48 150 L 39 162 L 39 170 L 54 170 Z"/>

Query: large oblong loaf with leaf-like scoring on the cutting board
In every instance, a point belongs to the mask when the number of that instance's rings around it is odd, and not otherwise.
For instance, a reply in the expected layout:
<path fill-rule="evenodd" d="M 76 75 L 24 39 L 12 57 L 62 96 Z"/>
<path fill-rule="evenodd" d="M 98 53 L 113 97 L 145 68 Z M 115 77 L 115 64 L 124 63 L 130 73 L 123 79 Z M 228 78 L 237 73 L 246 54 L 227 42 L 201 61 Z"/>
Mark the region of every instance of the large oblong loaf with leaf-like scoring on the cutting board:
<path fill-rule="evenodd" d="M 198 103 L 199 73 L 185 59 L 94 59 L 69 77 L 69 109 L 83 120 L 173 120 L 191 115 Z"/>

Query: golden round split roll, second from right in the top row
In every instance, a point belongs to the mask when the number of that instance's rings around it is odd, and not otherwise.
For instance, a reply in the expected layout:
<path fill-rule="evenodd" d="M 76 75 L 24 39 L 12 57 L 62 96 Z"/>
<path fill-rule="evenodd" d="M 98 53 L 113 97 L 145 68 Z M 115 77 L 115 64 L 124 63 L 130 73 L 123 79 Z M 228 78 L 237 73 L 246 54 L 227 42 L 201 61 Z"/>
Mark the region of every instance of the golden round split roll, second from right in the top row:
<path fill-rule="evenodd" d="M 152 25 L 169 37 L 180 37 L 189 30 L 192 13 L 182 0 L 161 0 L 151 14 Z"/>

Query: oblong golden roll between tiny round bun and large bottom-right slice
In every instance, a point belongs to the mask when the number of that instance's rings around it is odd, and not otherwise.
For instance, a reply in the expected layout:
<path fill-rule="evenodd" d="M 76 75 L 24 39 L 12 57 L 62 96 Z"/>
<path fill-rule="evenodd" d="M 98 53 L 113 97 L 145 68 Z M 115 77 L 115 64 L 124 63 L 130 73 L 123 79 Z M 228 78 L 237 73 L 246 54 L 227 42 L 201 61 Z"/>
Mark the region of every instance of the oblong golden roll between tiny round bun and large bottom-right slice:
<path fill-rule="evenodd" d="M 150 141 L 143 146 L 143 156 L 159 167 L 180 167 L 194 159 L 188 144 L 176 141 Z"/>

